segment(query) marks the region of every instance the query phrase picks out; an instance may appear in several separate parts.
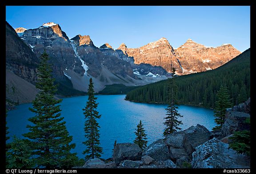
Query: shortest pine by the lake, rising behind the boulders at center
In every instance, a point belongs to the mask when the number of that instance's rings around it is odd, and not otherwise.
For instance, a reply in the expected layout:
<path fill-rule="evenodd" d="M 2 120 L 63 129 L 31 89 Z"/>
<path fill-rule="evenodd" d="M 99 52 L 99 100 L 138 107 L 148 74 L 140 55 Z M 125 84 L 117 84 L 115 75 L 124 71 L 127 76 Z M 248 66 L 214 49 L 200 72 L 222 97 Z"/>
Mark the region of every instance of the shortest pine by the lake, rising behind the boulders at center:
<path fill-rule="evenodd" d="M 137 125 L 137 129 L 135 129 L 136 131 L 134 132 L 136 135 L 135 140 L 133 141 L 135 144 L 138 144 L 139 147 L 142 150 L 146 150 L 147 149 L 147 143 L 148 141 L 146 139 L 148 139 L 146 136 L 147 134 L 145 134 L 145 130 L 143 128 L 143 124 L 140 120 L 140 123 Z"/>

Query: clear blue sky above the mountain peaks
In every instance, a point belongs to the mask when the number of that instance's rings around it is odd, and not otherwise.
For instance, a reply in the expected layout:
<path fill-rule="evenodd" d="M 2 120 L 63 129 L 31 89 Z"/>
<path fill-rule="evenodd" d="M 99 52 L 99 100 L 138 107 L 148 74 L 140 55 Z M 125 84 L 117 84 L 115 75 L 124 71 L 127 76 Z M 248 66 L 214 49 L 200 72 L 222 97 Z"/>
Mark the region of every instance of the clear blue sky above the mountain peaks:
<path fill-rule="evenodd" d="M 205 46 L 250 47 L 250 6 L 6 6 L 15 29 L 58 23 L 69 39 L 90 35 L 95 46 L 137 48 L 162 37 L 177 48 L 188 39 Z"/>

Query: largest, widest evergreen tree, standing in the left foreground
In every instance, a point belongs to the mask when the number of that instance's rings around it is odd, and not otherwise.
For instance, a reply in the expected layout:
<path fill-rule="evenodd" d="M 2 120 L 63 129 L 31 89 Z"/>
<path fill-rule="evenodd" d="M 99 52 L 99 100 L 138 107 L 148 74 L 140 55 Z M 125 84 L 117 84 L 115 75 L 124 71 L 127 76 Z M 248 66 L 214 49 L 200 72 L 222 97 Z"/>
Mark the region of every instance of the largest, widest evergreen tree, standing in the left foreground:
<path fill-rule="evenodd" d="M 64 117 L 60 117 L 59 104 L 62 100 L 54 99 L 56 85 L 53 85 L 54 79 L 48 60 L 48 54 L 44 51 L 40 56 L 36 82 L 36 88 L 40 91 L 32 101 L 33 108 L 29 108 L 36 115 L 28 119 L 32 125 L 27 125 L 29 132 L 24 137 L 32 141 L 32 155 L 36 167 L 69 168 L 78 161 L 76 153 L 70 152 L 76 145 L 71 143 L 72 136 L 67 131 Z"/>

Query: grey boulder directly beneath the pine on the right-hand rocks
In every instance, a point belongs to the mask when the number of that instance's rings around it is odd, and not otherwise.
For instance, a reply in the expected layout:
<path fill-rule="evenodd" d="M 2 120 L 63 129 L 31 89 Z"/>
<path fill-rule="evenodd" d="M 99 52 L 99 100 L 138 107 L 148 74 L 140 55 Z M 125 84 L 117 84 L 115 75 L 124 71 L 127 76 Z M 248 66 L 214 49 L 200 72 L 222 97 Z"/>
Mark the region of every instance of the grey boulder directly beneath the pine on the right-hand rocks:
<path fill-rule="evenodd" d="M 164 143 L 175 148 L 184 148 L 185 132 L 177 131 L 166 137 Z"/>

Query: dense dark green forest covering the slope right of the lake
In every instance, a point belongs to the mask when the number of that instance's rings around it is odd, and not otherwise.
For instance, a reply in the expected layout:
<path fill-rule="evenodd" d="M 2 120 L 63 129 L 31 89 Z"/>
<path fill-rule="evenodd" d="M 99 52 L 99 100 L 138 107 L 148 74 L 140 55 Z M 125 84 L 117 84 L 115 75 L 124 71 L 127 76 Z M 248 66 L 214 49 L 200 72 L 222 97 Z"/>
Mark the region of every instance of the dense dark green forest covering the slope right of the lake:
<path fill-rule="evenodd" d="M 223 85 L 231 103 L 237 105 L 250 97 L 250 48 L 215 70 L 174 78 L 180 104 L 214 108 L 216 93 Z M 125 100 L 166 104 L 168 80 L 136 88 L 127 93 Z"/>

